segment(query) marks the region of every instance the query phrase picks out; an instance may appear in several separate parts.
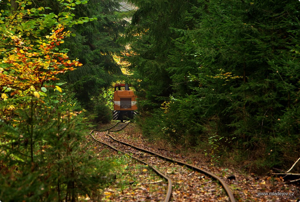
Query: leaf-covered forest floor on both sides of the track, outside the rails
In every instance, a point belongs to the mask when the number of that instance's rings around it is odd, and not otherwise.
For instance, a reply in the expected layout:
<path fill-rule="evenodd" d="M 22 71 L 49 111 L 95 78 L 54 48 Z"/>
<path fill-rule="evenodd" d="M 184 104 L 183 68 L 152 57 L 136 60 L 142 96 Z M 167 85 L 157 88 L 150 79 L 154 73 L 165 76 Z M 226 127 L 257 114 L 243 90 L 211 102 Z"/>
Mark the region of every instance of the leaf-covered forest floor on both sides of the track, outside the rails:
<path fill-rule="evenodd" d="M 101 125 L 99 127 L 107 128 L 107 126 L 108 125 Z M 199 152 L 178 152 L 178 149 L 175 150 L 169 148 L 166 143 L 147 140 L 143 137 L 140 129 L 135 124 L 130 124 L 124 130 L 113 132 L 111 135 L 118 140 L 148 149 L 179 161 L 193 164 L 216 174 L 229 185 L 229 188 L 234 194 L 237 202 L 298 202 L 300 199 L 299 186 L 287 183 L 282 178 L 272 175 L 256 176 L 252 173 L 245 174 L 234 168 L 217 166 L 216 164 L 208 161 L 207 157 Z M 92 141 L 89 135 L 86 136 L 86 139 L 87 141 Z M 92 143 L 91 149 L 94 150 L 97 158 L 113 159 L 113 164 L 118 164 L 119 167 L 121 166 L 122 168 L 116 170 L 117 179 L 107 188 L 102 190 L 101 197 L 95 201 L 163 201 L 167 186 L 166 182 L 160 182 L 161 179 L 156 176 L 156 173 L 151 172 L 145 165 L 138 163 L 122 153 L 109 149 L 107 146 L 100 145 L 99 143 Z M 102 154 L 98 155 L 100 152 L 102 152 Z M 149 183 L 149 180 L 152 183 Z M 137 182 L 147 183 L 141 185 L 137 184 Z M 258 196 L 258 192 L 270 193 L 270 196 Z M 202 201 L 206 201 L 205 197 L 205 194 L 203 194 Z"/>

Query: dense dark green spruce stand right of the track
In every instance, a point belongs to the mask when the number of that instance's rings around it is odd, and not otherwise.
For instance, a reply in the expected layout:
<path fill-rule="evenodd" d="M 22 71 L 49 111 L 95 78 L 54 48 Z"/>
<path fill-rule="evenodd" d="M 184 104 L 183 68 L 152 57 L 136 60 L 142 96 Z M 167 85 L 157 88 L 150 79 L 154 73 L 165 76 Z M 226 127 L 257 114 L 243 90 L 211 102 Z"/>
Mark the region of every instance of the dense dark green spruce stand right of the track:
<path fill-rule="evenodd" d="M 128 61 L 143 109 L 157 106 L 149 131 L 262 162 L 251 167 L 297 158 L 299 2 L 132 2 Z"/>

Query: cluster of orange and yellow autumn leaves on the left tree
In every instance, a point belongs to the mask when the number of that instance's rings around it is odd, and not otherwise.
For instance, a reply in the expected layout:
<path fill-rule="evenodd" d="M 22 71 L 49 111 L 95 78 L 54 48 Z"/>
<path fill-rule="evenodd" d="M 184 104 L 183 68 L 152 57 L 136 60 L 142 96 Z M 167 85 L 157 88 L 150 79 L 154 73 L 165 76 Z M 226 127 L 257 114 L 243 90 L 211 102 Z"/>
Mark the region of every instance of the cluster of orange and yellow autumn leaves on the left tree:
<path fill-rule="evenodd" d="M 13 92 L 10 96 L 21 96 L 22 92 L 29 89 L 47 86 L 47 81 L 57 80 L 58 74 L 74 70 L 81 66 L 78 61 L 70 61 L 66 53 L 55 50 L 55 44 L 68 34 L 63 32 L 64 28 L 55 30 L 45 37 L 45 40 L 37 41 L 39 46 L 32 46 L 31 41 L 24 40 L 19 36 L 10 36 L 17 46 L 7 52 L 0 60 L 0 90 L 10 86 Z M 8 37 L 8 36 L 7 36 Z M 57 89 L 61 92 L 61 90 Z M 37 92 L 38 93 L 38 92 Z M 35 93 L 35 96 L 39 95 Z"/>

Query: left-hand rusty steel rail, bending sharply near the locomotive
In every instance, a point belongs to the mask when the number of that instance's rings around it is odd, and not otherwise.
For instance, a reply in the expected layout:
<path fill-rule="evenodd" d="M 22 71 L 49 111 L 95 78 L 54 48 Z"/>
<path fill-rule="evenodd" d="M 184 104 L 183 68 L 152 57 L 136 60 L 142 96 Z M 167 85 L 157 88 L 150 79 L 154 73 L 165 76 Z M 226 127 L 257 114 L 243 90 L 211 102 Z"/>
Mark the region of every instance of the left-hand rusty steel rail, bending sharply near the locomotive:
<path fill-rule="evenodd" d="M 128 122 L 128 123 L 129 123 L 129 122 Z M 128 123 L 127 123 L 126 125 L 128 125 Z M 118 123 L 117 123 L 117 124 L 118 124 Z M 117 124 L 115 124 L 115 125 L 117 125 Z M 125 125 L 125 126 L 126 126 L 126 125 Z M 124 126 L 124 127 L 125 127 L 125 126 Z M 124 128 L 124 127 L 123 127 L 123 128 Z M 112 127 L 111 127 L 111 128 L 112 128 Z M 121 129 L 123 129 L 123 128 L 121 128 Z M 121 130 L 121 129 L 120 129 L 120 130 Z M 109 130 L 109 129 L 108 129 L 108 130 Z M 107 130 L 107 132 L 108 132 L 108 130 Z M 93 133 L 94 131 L 98 131 L 98 132 L 102 132 L 102 131 L 99 131 L 99 130 L 92 130 L 92 131 L 89 133 L 89 134 L 91 135 L 91 137 L 92 137 L 95 141 L 97 141 L 97 142 L 99 142 L 99 143 L 101 143 L 101 144 L 104 144 L 104 145 L 106 145 L 106 146 L 109 146 L 110 148 L 112 148 L 112 149 L 114 149 L 114 150 L 116 150 L 116 151 L 125 153 L 125 154 L 127 154 L 128 156 L 130 156 L 131 158 L 134 158 L 134 159 L 136 159 L 137 161 L 139 161 L 139 162 L 141 162 L 141 163 L 143 163 L 143 164 L 145 164 L 145 165 L 148 165 L 152 170 L 155 171 L 155 173 L 157 173 L 157 174 L 160 175 L 161 177 L 167 179 L 167 181 L 168 181 L 168 188 L 167 188 L 167 194 L 166 194 L 166 197 L 165 197 L 164 202 L 169 202 L 169 201 L 170 201 L 171 194 L 172 194 L 172 180 L 171 180 L 171 178 L 169 178 L 167 175 L 165 175 L 164 173 L 162 173 L 161 171 L 159 171 L 157 168 L 155 168 L 155 167 L 152 166 L 151 164 L 149 164 L 149 163 L 147 163 L 147 162 L 145 162 L 145 161 L 142 161 L 142 160 L 140 160 L 140 159 L 138 159 L 138 158 L 132 156 L 130 153 L 121 151 L 121 150 L 119 150 L 119 149 L 117 149 L 117 148 L 115 148 L 115 147 L 113 147 L 113 146 L 108 145 L 107 143 L 104 143 L 104 142 L 102 142 L 102 141 L 96 139 L 96 138 L 92 135 L 92 133 Z M 118 130 L 117 130 L 117 131 L 118 131 Z M 107 134 L 107 135 L 108 135 L 108 134 Z M 110 136 L 110 135 L 109 135 L 109 136 Z"/>

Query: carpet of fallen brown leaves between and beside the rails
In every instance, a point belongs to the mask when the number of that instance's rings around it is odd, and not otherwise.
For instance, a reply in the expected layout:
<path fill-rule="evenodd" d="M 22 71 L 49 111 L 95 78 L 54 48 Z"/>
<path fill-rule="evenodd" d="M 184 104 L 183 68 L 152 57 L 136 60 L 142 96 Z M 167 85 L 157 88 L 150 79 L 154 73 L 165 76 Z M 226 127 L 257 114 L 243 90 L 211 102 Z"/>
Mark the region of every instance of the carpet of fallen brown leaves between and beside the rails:
<path fill-rule="evenodd" d="M 218 167 L 214 164 L 206 162 L 207 159 L 199 158 L 198 156 L 193 156 L 189 154 L 187 156 L 172 152 L 170 148 L 162 149 L 157 146 L 157 144 L 147 141 L 141 133 L 136 132 L 135 125 L 128 125 L 125 130 L 111 133 L 114 138 L 133 144 L 161 155 L 176 159 L 178 161 L 183 161 L 189 164 L 193 164 L 202 169 L 208 170 L 219 177 L 221 177 L 230 187 L 231 191 L 235 196 L 235 200 L 238 202 L 241 201 L 262 201 L 262 202 L 283 202 L 283 201 L 299 201 L 300 189 L 296 185 L 287 184 L 284 180 L 280 178 L 274 178 L 273 176 L 255 176 L 254 174 L 245 175 L 237 170 Z M 134 132 L 133 132 L 134 131 Z M 89 137 L 87 137 L 89 139 Z M 108 141 L 108 140 L 107 140 Z M 104 146 L 101 146 L 105 148 Z M 122 149 L 120 149 L 122 150 Z M 125 149 L 126 152 L 133 153 L 130 149 Z M 113 156 L 116 152 L 112 152 Z M 148 162 L 154 164 L 154 156 L 142 153 L 136 153 L 138 158 L 147 159 Z M 155 163 L 156 167 L 164 173 L 167 173 L 168 176 L 172 178 L 173 183 L 173 192 L 172 198 L 170 201 L 229 201 L 222 187 L 215 181 L 211 180 L 207 176 L 204 176 L 201 173 L 193 172 L 190 169 L 184 168 L 177 164 L 170 164 L 157 161 Z M 147 169 L 148 170 L 148 169 Z M 143 170 L 142 170 L 143 172 Z M 145 173 L 144 173 L 145 174 Z M 143 175 L 140 175 L 142 177 Z M 229 176 L 235 176 L 235 179 L 227 179 Z M 158 179 L 158 181 L 161 179 Z M 142 180 L 143 181 L 143 180 Z M 142 182 L 141 181 L 141 182 Z M 146 181 L 146 180 L 145 180 Z M 155 181 L 155 180 L 154 180 Z M 201 182 L 201 185 L 199 184 Z M 160 182 L 162 183 L 162 182 Z M 166 182 L 161 185 L 160 183 L 145 184 L 153 185 L 156 187 L 164 187 L 163 191 L 159 188 L 154 188 L 159 191 L 149 192 L 149 187 L 140 187 L 137 189 L 137 186 L 128 186 L 126 190 L 117 191 L 107 188 L 107 191 L 104 193 L 108 194 L 109 197 L 105 196 L 105 200 L 101 199 L 99 201 L 163 201 L 166 193 Z M 293 193 L 289 196 L 258 196 L 257 192 L 285 192 Z M 120 196 L 120 194 L 122 196 Z M 131 197 L 128 197 L 131 196 Z M 107 200 L 109 199 L 109 200 Z"/>

